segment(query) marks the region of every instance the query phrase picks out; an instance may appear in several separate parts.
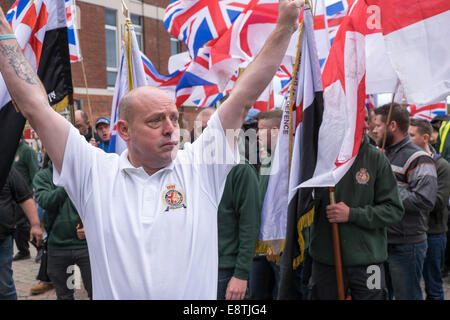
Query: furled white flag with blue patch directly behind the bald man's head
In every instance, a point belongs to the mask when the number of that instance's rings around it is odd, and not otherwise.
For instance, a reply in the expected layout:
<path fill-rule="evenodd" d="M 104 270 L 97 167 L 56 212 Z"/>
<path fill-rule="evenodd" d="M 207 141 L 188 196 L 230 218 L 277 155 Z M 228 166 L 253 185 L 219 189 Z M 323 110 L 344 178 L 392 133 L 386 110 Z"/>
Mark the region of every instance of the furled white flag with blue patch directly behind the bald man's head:
<path fill-rule="evenodd" d="M 131 33 L 131 72 L 133 75 L 133 89 L 147 85 L 146 73 L 142 53 L 136 40 L 134 29 L 130 26 Z M 126 46 L 122 45 L 122 57 L 120 59 L 119 71 L 117 73 L 114 97 L 111 106 L 111 140 L 108 152 L 121 154 L 126 148 L 125 141 L 117 133 L 117 121 L 119 120 L 119 104 L 124 95 L 128 93 L 128 65 Z"/>

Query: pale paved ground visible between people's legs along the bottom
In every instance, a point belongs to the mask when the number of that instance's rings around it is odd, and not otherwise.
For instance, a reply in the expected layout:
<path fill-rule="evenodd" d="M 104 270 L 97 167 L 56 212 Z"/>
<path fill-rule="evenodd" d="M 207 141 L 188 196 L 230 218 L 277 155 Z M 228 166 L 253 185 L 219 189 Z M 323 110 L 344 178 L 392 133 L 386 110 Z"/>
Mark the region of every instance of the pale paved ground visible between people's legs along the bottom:
<path fill-rule="evenodd" d="M 31 295 L 30 288 L 38 283 L 36 280 L 36 275 L 39 271 L 39 263 L 34 262 L 36 257 L 36 249 L 30 247 L 31 259 L 13 261 L 13 277 L 16 284 L 17 297 L 19 300 L 56 300 L 55 289 L 47 291 L 39 295 Z M 14 254 L 16 254 L 17 249 L 14 248 Z M 422 283 L 423 287 L 423 283 Z M 444 294 L 445 300 L 450 300 L 450 276 L 444 279 Z M 425 295 L 424 295 L 425 296 Z M 76 300 L 88 300 L 88 295 L 86 290 L 81 284 L 80 289 L 75 290 Z"/>

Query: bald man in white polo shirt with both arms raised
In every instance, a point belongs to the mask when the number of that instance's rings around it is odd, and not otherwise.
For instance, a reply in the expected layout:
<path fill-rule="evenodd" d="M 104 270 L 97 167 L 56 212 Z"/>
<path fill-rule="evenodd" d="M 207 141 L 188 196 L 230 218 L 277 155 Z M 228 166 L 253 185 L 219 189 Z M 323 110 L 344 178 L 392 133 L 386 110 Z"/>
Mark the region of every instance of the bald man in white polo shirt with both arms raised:
<path fill-rule="evenodd" d="M 178 110 L 161 90 L 121 101 L 118 132 L 128 150 L 106 154 L 48 107 L 14 39 L 0 40 L 0 71 L 39 134 L 83 220 L 94 299 L 215 299 L 217 207 L 238 162 L 236 136 L 275 74 L 303 1 L 280 0 L 278 23 L 199 139 L 178 152 Z M 11 29 L 0 12 L 0 35 Z"/>

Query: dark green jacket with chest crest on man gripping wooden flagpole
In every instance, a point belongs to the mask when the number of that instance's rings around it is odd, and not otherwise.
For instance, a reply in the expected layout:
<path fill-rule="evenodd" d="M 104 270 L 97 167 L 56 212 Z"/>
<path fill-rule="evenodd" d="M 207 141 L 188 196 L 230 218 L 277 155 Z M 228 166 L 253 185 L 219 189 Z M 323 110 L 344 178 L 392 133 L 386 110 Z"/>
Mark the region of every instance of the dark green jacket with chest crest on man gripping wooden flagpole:
<path fill-rule="evenodd" d="M 315 217 L 310 254 L 319 263 L 334 265 L 331 224 L 325 208 L 328 188 L 315 189 Z M 363 140 L 355 162 L 335 187 L 336 203 L 350 207 L 349 221 L 339 223 L 342 265 L 377 264 L 387 259 L 386 227 L 400 221 L 404 208 L 397 181 L 384 153 Z"/>

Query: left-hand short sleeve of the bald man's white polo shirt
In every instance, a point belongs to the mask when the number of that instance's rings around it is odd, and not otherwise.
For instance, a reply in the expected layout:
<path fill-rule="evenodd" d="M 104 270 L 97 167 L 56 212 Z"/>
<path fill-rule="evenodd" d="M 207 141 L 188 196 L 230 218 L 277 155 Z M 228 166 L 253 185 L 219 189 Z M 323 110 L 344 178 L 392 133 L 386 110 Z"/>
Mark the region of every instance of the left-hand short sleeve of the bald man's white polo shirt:
<path fill-rule="evenodd" d="M 53 170 L 53 183 L 64 187 L 79 214 L 92 193 L 91 170 L 98 150 L 70 126 L 61 172 Z"/>

